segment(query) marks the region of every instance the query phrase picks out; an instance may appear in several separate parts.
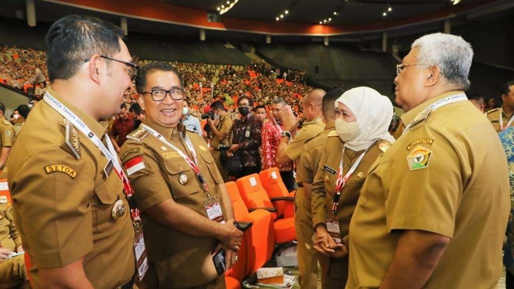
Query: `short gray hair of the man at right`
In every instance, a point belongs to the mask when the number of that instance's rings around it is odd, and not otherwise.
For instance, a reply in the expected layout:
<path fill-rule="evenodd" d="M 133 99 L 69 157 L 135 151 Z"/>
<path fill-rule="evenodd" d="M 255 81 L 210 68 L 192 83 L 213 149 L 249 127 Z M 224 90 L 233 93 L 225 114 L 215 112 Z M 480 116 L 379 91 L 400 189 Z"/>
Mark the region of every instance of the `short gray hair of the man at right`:
<path fill-rule="evenodd" d="M 439 67 L 453 89 L 469 88 L 469 68 L 473 59 L 471 45 L 462 37 L 444 33 L 432 33 L 418 38 L 411 48 L 419 47 L 418 62 Z"/>

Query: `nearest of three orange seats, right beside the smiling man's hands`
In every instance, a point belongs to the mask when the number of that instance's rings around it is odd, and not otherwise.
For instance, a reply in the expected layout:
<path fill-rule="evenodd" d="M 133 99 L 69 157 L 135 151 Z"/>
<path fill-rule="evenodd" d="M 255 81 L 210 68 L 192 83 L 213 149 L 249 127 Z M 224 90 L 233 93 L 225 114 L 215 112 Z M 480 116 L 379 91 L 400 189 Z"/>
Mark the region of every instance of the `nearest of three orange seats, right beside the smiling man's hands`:
<path fill-rule="evenodd" d="M 232 202 L 232 209 L 234 211 L 234 218 L 236 221 L 252 222 L 253 225 L 245 231 L 243 238 L 246 246 L 246 268 L 243 276 L 254 274 L 257 269 L 261 268 L 267 261 L 271 259 L 273 254 L 273 247 L 275 241 L 275 231 L 273 226 L 273 218 L 271 213 L 265 210 L 254 210 L 248 212 L 248 209 L 241 198 L 241 194 L 237 189 L 234 182 L 225 184 L 230 200 Z M 242 258 L 242 253 L 238 254 Z M 237 262 L 239 262 L 238 260 Z M 236 271 L 240 264 L 236 263 L 234 270 Z M 229 275 L 242 281 L 243 278 L 234 272 L 234 275 Z"/>

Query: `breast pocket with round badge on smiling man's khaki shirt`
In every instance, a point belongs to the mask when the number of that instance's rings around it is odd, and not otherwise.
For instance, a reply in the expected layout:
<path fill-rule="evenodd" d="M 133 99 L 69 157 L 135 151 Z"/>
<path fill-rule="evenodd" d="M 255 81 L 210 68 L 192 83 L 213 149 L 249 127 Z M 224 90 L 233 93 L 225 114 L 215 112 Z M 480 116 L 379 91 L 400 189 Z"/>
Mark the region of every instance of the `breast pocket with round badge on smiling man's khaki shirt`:
<path fill-rule="evenodd" d="M 200 184 L 193 169 L 185 160 L 174 158 L 164 162 L 171 186 L 171 194 L 175 201 L 181 197 L 200 191 Z"/>

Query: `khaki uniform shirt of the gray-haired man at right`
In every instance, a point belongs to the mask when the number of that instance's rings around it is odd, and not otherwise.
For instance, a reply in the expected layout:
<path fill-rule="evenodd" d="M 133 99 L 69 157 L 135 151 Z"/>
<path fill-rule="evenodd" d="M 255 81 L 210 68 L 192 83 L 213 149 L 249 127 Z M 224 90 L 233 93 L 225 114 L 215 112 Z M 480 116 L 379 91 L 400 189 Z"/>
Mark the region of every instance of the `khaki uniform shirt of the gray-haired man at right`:
<path fill-rule="evenodd" d="M 402 121 L 462 93 L 429 99 Z M 350 224 L 346 288 L 380 286 L 397 230 L 412 229 L 451 238 L 424 288 L 495 288 L 509 200 L 505 153 L 487 118 L 469 101 L 439 107 L 371 166 Z"/>

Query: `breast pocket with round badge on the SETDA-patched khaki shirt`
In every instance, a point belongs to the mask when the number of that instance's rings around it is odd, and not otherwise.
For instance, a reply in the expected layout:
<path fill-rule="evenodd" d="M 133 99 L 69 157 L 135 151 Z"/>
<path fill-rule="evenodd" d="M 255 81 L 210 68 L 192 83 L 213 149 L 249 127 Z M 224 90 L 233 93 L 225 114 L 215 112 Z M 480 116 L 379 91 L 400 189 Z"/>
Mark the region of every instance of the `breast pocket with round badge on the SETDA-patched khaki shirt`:
<path fill-rule="evenodd" d="M 114 203 L 123 194 L 123 183 L 113 172 L 100 186 L 95 188 L 95 194 L 98 202 L 96 202 L 96 206 L 93 208 L 93 214 L 96 217 L 96 224 L 94 225 L 101 230 L 101 224 L 116 222 L 112 216 L 112 211 Z M 126 202 L 124 203 L 126 206 Z M 126 211 L 128 211 L 128 208 L 126 208 Z"/>

